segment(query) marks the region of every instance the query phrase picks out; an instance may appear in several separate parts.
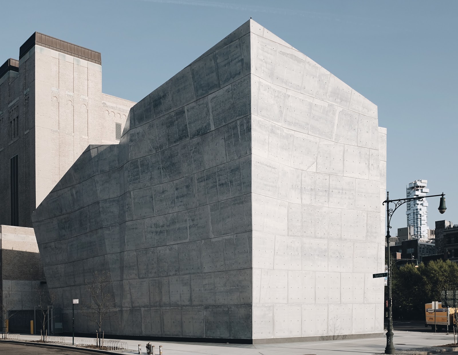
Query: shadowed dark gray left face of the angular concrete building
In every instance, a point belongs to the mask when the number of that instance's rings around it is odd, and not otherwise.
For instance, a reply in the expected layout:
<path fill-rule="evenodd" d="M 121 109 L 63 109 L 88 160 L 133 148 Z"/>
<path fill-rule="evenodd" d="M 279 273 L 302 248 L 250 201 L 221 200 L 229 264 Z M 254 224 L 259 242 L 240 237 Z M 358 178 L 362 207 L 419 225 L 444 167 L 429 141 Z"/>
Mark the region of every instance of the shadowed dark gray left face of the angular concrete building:
<path fill-rule="evenodd" d="M 90 146 L 37 209 L 59 307 L 106 269 L 110 333 L 251 338 L 249 33 L 136 104 L 120 144 Z"/>

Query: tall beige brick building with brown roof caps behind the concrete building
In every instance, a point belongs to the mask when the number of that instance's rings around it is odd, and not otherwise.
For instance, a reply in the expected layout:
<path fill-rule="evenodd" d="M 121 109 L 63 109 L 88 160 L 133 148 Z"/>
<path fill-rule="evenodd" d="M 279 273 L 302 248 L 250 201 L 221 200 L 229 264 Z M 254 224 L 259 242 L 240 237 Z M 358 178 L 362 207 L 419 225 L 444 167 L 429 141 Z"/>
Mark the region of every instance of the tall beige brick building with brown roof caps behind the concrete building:
<path fill-rule="evenodd" d="M 35 32 L 0 67 L 0 224 L 30 215 L 90 144 L 116 144 L 134 102 L 102 93 L 101 54 Z"/>

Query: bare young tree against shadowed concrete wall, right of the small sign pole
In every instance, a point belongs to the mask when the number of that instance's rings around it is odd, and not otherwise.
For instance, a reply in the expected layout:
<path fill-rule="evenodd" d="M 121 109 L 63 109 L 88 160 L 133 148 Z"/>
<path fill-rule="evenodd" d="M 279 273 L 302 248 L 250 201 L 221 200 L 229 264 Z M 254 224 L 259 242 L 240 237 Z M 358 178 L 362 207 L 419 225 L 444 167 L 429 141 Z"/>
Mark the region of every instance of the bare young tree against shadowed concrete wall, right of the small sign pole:
<path fill-rule="evenodd" d="M 82 300 L 82 315 L 95 323 L 98 327 L 98 346 L 101 346 L 100 333 L 102 323 L 106 317 L 113 312 L 114 297 L 109 292 L 111 286 L 111 275 L 105 271 L 96 271 L 92 281 L 85 281 L 85 289 L 88 299 Z"/>

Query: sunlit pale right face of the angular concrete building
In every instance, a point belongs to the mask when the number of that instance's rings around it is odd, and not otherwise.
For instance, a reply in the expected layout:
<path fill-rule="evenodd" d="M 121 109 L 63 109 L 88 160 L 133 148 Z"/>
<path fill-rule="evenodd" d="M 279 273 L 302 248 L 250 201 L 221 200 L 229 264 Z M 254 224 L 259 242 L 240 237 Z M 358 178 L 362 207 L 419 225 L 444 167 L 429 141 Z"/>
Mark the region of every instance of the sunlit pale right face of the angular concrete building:
<path fill-rule="evenodd" d="M 382 333 L 377 107 L 251 26 L 253 339 Z"/>

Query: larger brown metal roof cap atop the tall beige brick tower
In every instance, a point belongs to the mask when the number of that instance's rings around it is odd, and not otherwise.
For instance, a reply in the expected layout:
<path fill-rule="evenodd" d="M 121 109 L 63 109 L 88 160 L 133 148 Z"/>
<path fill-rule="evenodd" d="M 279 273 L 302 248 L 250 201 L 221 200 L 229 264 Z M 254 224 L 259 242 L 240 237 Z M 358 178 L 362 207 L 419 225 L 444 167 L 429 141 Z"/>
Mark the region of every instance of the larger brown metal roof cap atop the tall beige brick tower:
<path fill-rule="evenodd" d="M 22 44 L 21 48 L 19 48 L 19 59 L 21 59 L 35 44 L 102 65 L 102 54 L 99 52 L 39 32 L 34 32 L 33 35 Z"/>

